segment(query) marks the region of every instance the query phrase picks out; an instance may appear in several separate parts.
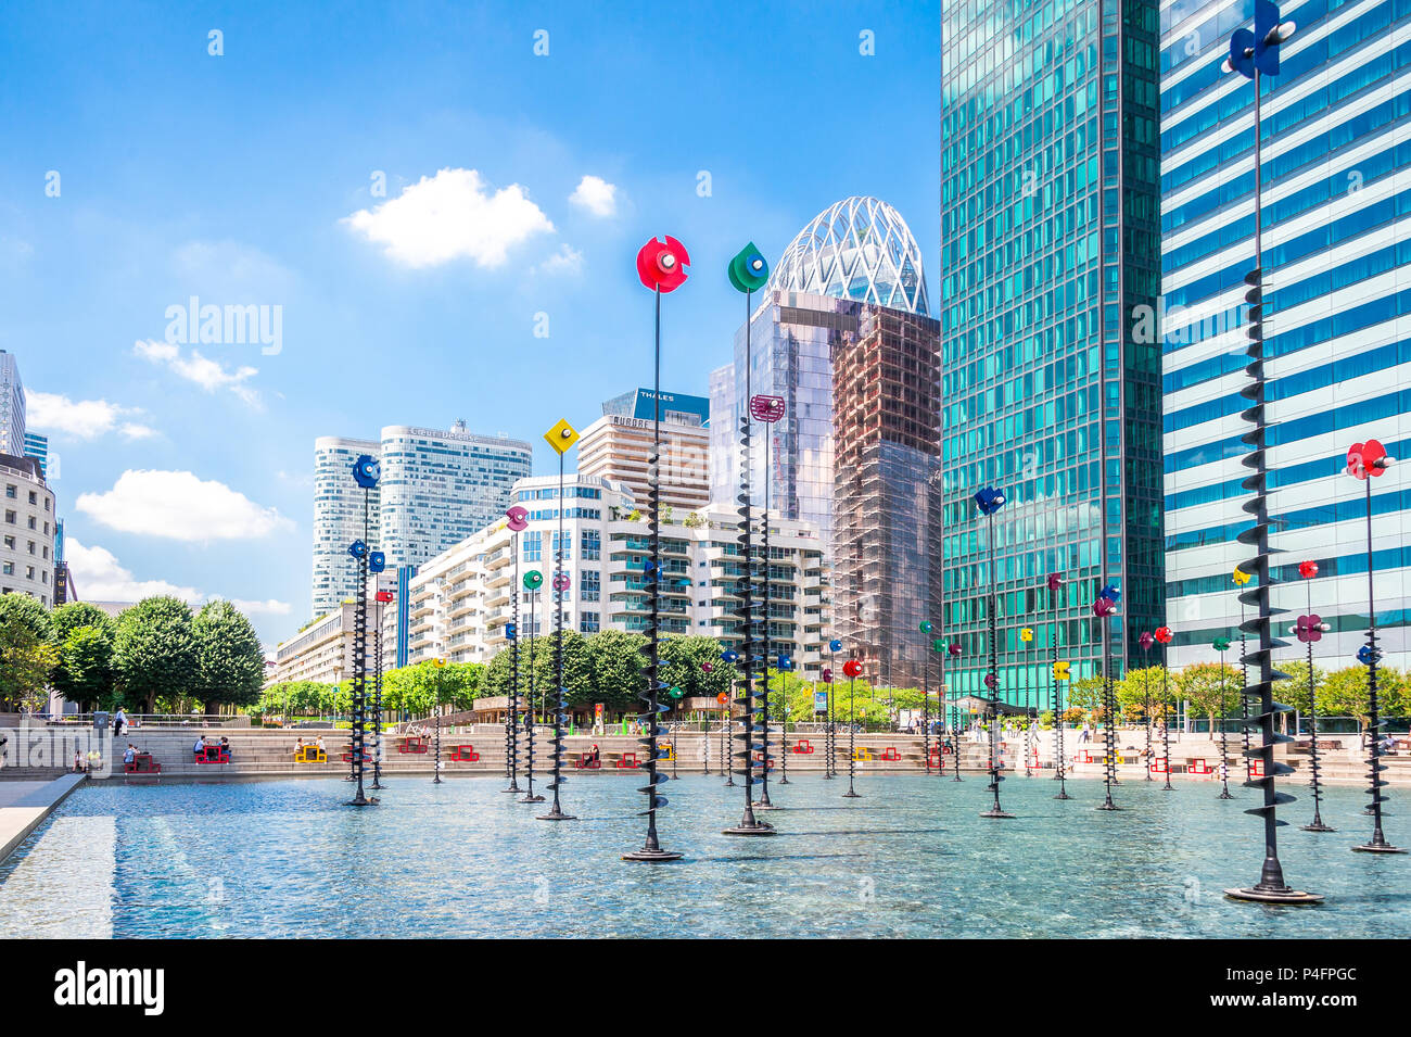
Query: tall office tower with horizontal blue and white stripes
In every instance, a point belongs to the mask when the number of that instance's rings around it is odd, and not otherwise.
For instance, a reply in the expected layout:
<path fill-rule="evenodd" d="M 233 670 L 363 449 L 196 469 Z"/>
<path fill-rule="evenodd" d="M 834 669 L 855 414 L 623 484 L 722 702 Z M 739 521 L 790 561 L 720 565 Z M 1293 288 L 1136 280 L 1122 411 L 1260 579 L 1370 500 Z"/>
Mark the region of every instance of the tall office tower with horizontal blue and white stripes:
<path fill-rule="evenodd" d="M 1163 10 L 1161 260 L 1165 566 L 1173 665 L 1211 660 L 1237 633 L 1235 566 L 1252 549 L 1239 463 L 1249 426 L 1243 275 L 1254 265 L 1254 97 L 1221 62 L 1250 3 Z M 1314 611 L 1332 626 L 1318 665 L 1352 665 L 1367 629 L 1363 484 L 1348 447 L 1379 439 L 1411 456 L 1411 119 L 1401 3 L 1283 4 L 1298 31 L 1264 80 L 1264 356 L 1274 604 L 1305 611 L 1298 563 L 1315 560 Z M 1400 473 L 1400 474 L 1398 474 Z M 1373 484 L 1379 626 L 1403 626 L 1411 597 L 1411 490 Z M 1290 619 L 1291 622 L 1291 619 Z M 1276 633 L 1283 633 L 1276 628 Z M 1287 639 L 1287 638 L 1285 638 Z M 1391 666 L 1405 639 L 1384 642 Z"/>

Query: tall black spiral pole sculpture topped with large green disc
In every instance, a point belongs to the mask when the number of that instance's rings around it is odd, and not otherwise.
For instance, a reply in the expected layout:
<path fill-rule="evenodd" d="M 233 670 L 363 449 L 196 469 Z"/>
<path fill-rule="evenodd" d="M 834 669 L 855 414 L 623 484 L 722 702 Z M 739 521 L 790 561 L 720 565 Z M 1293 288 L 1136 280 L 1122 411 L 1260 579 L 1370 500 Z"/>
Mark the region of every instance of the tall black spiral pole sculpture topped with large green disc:
<path fill-rule="evenodd" d="M 759 250 L 755 248 L 753 243 L 751 243 L 741 248 L 735 258 L 729 261 L 727 277 L 735 291 L 744 292 L 745 295 L 745 399 L 752 399 L 751 368 L 753 364 L 751 353 L 749 317 L 753 309 L 755 291 L 763 288 L 765 282 L 769 279 L 769 264 L 765 262 L 765 257 L 761 255 Z M 755 818 L 753 786 L 759 783 L 759 779 L 755 777 L 755 714 L 761 711 L 755 704 L 755 673 L 756 667 L 763 667 L 768 663 L 761 646 L 761 631 L 758 629 L 762 621 L 755 605 L 755 522 L 749 471 L 752 461 L 753 444 L 751 443 L 751 416 L 748 413 L 742 413 L 739 416 L 739 495 L 735 498 L 739 514 L 739 536 L 737 538 L 737 542 L 739 543 L 741 574 L 735 581 L 735 597 L 739 601 L 735 615 L 739 619 L 738 631 L 741 635 L 741 648 L 744 649 L 745 672 L 741 674 L 739 698 L 735 700 L 735 705 L 739 707 L 741 712 L 741 732 L 735 735 L 735 738 L 741 742 L 741 746 L 739 751 L 735 752 L 734 758 L 739 762 L 737 773 L 741 779 L 744 779 L 745 813 L 741 817 L 739 824 L 725 830 L 725 835 L 775 834 L 775 827 L 772 824 Z M 761 751 L 759 763 L 768 772 L 768 744 Z"/>

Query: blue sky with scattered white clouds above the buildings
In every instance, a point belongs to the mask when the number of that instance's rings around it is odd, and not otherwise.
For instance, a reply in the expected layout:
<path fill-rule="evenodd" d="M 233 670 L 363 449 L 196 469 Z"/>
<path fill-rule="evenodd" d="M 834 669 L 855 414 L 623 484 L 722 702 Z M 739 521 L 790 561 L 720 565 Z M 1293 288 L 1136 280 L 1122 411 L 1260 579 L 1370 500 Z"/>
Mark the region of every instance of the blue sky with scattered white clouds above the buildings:
<path fill-rule="evenodd" d="M 663 385 L 703 395 L 746 240 L 865 193 L 938 253 L 934 0 L 4 17 L 0 348 L 79 593 L 254 602 L 267 643 L 308 618 L 315 437 L 464 418 L 547 471 L 543 430 L 649 382 L 648 237 L 690 251 Z M 279 351 L 168 341 L 190 296 L 278 306 Z"/>

